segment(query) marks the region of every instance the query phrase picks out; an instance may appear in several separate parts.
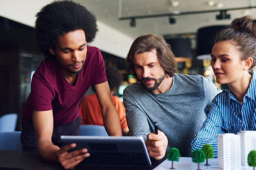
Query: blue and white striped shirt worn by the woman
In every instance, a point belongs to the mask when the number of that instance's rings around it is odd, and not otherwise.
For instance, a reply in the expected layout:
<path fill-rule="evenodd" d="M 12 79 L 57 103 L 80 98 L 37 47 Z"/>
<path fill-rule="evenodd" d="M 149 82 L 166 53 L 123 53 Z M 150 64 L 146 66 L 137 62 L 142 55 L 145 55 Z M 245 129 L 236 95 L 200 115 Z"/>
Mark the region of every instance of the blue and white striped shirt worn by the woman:
<path fill-rule="evenodd" d="M 256 130 L 256 73 L 253 72 L 248 91 L 239 102 L 230 90 L 225 89 L 212 101 L 207 119 L 203 123 L 197 137 L 192 141 L 192 151 L 201 149 L 204 144 L 213 147 L 213 155 L 217 157 L 217 134 L 238 133 Z"/>

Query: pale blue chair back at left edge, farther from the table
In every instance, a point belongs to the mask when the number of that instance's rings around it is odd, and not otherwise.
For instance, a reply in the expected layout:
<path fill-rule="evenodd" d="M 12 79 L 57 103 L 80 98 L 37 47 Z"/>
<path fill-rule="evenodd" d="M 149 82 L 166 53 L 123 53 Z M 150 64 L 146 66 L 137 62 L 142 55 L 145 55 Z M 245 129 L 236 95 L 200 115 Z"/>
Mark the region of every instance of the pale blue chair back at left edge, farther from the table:
<path fill-rule="evenodd" d="M 17 113 L 8 113 L 0 117 L 0 132 L 12 132 L 16 129 Z"/>

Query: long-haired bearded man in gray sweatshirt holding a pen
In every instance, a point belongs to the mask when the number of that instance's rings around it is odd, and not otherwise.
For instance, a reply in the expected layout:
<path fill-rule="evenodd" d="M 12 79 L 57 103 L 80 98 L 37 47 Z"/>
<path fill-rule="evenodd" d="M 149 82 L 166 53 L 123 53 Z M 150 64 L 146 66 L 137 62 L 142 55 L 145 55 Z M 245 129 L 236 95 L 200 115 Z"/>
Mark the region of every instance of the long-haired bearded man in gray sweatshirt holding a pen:
<path fill-rule="evenodd" d="M 161 36 L 135 39 L 126 61 L 126 70 L 138 80 L 123 94 L 130 133 L 144 137 L 155 159 L 162 159 L 170 147 L 191 157 L 191 141 L 206 119 L 204 109 L 220 90 L 201 75 L 175 74 L 175 56 Z"/>

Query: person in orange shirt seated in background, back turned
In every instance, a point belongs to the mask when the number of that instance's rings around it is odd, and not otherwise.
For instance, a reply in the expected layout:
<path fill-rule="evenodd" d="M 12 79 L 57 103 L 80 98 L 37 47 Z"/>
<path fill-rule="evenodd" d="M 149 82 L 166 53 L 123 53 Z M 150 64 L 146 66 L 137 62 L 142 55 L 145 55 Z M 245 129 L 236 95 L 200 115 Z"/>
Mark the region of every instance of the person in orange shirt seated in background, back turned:
<path fill-rule="evenodd" d="M 106 67 L 106 76 L 108 78 L 112 102 L 117 109 L 122 131 L 124 134 L 126 134 L 129 132 L 129 129 L 126 122 L 124 104 L 117 96 L 113 95 L 118 90 L 121 84 L 121 74 L 119 73 L 119 70 L 115 67 Z M 94 91 L 93 86 L 92 89 Z M 81 116 L 81 124 L 94 124 L 103 126 L 101 106 L 99 104 L 96 94 L 88 94 L 87 96 L 85 96 L 85 98 L 83 98 L 80 104 L 79 113 Z"/>

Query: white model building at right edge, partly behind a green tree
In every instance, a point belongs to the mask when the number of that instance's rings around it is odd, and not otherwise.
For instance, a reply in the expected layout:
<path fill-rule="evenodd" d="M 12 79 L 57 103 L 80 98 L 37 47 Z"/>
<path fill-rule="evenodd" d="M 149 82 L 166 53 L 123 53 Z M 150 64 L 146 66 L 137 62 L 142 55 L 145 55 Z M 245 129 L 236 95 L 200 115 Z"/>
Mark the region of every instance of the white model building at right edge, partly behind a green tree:
<path fill-rule="evenodd" d="M 256 150 L 256 131 L 241 131 L 237 133 L 241 137 L 242 165 L 248 166 L 247 157 L 251 150 Z"/>

